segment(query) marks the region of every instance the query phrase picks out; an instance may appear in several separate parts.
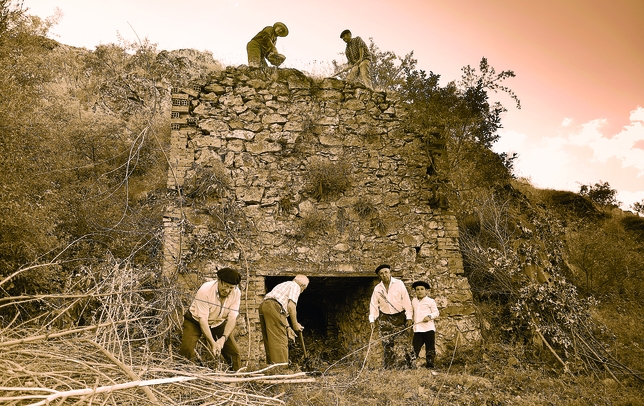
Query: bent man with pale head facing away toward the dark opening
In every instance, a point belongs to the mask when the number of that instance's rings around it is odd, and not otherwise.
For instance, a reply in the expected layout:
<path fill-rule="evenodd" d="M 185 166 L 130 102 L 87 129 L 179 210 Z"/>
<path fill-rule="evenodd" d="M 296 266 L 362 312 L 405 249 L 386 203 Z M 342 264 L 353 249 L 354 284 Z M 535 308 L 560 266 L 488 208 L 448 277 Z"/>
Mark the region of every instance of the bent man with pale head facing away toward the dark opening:
<path fill-rule="evenodd" d="M 292 281 L 278 284 L 259 305 L 267 364 L 288 363 L 288 326 L 300 333 L 304 327 L 297 321 L 297 300 L 309 286 L 309 278 L 297 275 Z"/>

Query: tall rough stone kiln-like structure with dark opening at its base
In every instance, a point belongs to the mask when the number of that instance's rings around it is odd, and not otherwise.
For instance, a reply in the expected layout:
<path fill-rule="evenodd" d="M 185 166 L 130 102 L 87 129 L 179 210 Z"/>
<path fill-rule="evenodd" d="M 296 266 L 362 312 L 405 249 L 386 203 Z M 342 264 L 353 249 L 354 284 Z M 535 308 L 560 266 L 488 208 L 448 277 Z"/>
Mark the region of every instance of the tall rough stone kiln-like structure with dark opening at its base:
<path fill-rule="evenodd" d="M 163 272 L 186 308 L 218 268 L 241 272 L 244 362 L 264 358 L 263 296 L 298 273 L 310 278 L 298 304 L 309 352 L 331 342 L 318 356 L 334 361 L 365 347 L 382 263 L 412 298 L 414 280 L 431 284 L 439 357 L 480 339 L 455 216 L 430 205 L 432 157 L 404 131 L 395 93 L 240 66 L 173 88 L 172 105 Z"/>

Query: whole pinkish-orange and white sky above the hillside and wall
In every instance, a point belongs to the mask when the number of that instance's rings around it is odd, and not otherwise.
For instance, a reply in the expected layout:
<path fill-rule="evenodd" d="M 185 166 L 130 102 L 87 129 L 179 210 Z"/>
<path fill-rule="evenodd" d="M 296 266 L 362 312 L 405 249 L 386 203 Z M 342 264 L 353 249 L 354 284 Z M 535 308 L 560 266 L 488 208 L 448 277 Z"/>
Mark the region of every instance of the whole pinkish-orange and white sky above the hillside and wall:
<path fill-rule="evenodd" d="M 538 188 L 579 192 L 608 182 L 621 207 L 644 201 L 644 0 L 24 0 L 41 18 L 62 13 L 57 41 L 97 45 L 148 39 L 158 50 L 210 51 L 245 64 L 246 43 L 281 21 L 282 65 L 314 75 L 344 62 L 340 32 L 417 67 L 461 77 L 482 57 L 521 100 L 508 111 L 497 152 L 516 152 L 515 174 Z"/>

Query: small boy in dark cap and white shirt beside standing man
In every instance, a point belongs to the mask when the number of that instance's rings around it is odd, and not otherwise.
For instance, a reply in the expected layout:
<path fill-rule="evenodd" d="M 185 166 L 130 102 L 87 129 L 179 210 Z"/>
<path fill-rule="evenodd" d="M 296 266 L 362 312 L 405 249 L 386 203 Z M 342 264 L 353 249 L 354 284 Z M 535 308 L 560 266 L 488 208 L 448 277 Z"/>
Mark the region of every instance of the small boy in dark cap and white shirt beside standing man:
<path fill-rule="evenodd" d="M 436 357 L 436 326 L 434 319 L 438 317 L 438 307 L 436 301 L 427 296 L 429 283 L 416 281 L 411 285 L 416 293 L 412 299 L 411 306 L 414 309 L 414 338 L 412 345 L 416 357 L 420 354 L 421 348 L 425 346 L 426 368 L 434 368 L 434 358 Z"/>

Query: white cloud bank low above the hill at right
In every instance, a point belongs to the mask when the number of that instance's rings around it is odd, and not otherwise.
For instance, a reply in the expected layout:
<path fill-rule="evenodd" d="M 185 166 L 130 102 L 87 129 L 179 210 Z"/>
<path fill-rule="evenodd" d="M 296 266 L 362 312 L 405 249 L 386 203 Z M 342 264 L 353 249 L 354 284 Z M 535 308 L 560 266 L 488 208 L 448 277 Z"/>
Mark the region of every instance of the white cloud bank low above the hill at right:
<path fill-rule="evenodd" d="M 630 112 L 630 123 L 616 134 L 602 133 L 605 119 L 573 125 L 564 119 L 556 135 L 534 137 L 500 133 L 497 152 L 517 152 L 515 174 L 539 188 L 579 191 L 580 184 L 608 182 L 622 208 L 644 198 L 644 108 Z"/>

